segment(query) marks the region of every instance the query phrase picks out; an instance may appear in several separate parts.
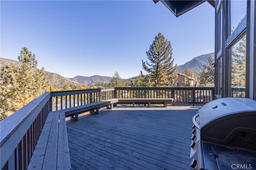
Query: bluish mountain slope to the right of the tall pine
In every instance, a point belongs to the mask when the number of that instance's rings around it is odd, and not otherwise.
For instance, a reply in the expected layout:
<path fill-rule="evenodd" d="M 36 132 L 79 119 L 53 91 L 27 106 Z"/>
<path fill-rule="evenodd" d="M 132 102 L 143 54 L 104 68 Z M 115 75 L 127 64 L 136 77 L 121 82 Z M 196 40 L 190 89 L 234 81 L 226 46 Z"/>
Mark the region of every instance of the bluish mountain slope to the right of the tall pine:
<path fill-rule="evenodd" d="M 210 57 L 210 55 L 214 55 L 214 53 L 204 54 L 195 57 L 194 59 L 186 62 L 185 64 L 177 66 L 177 70 L 179 73 L 182 73 L 187 68 L 190 68 L 196 74 L 198 74 L 204 68 L 204 65 L 207 63 L 207 60 Z"/>

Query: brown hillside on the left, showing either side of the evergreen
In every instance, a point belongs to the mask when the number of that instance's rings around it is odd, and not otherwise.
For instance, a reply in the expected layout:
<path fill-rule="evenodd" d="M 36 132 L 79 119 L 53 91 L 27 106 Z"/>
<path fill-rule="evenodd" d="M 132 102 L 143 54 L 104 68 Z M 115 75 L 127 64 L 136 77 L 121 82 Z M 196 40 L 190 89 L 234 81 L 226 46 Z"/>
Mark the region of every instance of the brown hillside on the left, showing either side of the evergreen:
<path fill-rule="evenodd" d="M 0 66 L 10 66 L 10 64 L 14 64 L 14 66 L 21 66 L 19 61 L 0 58 Z M 84 86 L 83 84 L 72 81 L 66 77 L 61 76 L 60 74 L 56 74 L 53 72 L 45 71 L 45 74 L 50 82 L 50 85 L 54 88 L 63 88 L 65 85 L 68 86 Z"/>

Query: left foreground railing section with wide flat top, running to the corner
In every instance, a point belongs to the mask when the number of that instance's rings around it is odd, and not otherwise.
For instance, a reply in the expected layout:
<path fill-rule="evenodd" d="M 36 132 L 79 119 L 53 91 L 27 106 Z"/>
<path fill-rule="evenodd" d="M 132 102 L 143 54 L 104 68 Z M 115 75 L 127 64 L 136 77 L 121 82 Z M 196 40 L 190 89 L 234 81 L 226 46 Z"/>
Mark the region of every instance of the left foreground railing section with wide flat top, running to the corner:
<path fill-rule="evenodd" d="M 50 111 L 46 92 L 0 122 L 1 169 L 26 170 Z"/>

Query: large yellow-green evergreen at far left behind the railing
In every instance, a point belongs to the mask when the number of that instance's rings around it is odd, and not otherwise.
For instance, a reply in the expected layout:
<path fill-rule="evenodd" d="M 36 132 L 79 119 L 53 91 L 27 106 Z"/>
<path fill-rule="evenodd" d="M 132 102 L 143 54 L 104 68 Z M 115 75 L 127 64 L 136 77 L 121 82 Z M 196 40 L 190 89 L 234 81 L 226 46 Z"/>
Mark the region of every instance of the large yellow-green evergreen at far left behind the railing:
<path fill-rule="evenodd" d="M 44 68 L 37 69 L 36 55 L 26 47 L 20 51 L 20 67 L 13 64 L 1 68 L 0 113 L 10 114 L 49 89 Z"/>

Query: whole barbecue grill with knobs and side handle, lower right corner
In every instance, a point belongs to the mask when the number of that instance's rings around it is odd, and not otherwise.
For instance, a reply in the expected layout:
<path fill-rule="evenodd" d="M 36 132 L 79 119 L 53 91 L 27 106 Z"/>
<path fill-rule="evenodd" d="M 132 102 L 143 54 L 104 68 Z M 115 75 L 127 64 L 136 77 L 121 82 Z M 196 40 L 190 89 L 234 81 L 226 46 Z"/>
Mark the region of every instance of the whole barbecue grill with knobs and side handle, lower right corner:
<path fill-rule="evenodd" d="M 255 100 L 213 100 L 192 121 L 192 170 L 256 170 Z"/>

